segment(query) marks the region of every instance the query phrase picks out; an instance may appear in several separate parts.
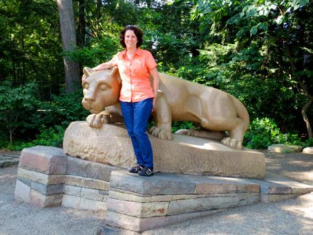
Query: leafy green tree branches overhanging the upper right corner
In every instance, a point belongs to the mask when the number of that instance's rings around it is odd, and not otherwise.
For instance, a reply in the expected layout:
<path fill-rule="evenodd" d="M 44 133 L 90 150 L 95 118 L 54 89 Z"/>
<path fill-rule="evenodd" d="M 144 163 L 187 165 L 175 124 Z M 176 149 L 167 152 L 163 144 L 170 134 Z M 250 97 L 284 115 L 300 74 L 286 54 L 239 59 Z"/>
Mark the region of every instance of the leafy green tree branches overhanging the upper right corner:
<path fill-rule="evenodd" d="M 312 61 L 303 62 L 313 49 L 312 42 L 303 40 L 312 38 L 310 15 L 312 0 L 197 1 L 193 8 L 193 17 L 201 21 L 201 28 L 209 27 L 224 42 L 236 44 L 228 65 L 241 62 L 252 77 L 260 76 L 264 81 L 274 78 L 277 84 L 283 80 L 281 90 L 286 93 L 292 87 L 294 104 L 302 105 L 298 113 L 303 115 L 307 135 L 312 138 L 306 114 L 313 101 L 313 71 L 308 69 Z M 289 112 L 290 106 L 285 106 Z"/>

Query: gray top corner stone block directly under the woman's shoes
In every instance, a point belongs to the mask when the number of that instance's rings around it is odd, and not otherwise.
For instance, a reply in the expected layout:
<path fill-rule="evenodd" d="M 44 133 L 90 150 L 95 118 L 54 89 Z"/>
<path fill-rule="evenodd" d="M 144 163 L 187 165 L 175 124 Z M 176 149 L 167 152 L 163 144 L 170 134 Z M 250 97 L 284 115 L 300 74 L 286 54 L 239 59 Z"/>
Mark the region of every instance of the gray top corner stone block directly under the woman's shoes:
<path fill-rule="evenodd" d="M 128 171 L 112 171 L 110 186 L 137 194 L 193 194 L 196 183 L 173 173 L 155 173 L 142 177 Z"/>

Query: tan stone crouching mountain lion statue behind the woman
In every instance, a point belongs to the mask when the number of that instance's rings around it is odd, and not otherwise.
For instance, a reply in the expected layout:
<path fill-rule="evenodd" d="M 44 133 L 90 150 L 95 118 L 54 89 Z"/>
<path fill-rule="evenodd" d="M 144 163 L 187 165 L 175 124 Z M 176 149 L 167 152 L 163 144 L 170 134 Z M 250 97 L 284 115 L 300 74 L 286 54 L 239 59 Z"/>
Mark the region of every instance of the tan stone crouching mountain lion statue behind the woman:
<path fill-rule="evenodd" d="M 93 71 L 85 67 L 84 74 L 82 105 L 93 113 L 86 119 L 88 126 L 100 128 L 102 124 L 123 122 L 119 102 L 122 80 L 118 68 Z M 238 99 L 216 88 L 159 74 L 160 88 L 155 98 L 155 111 L 151 113 L 155 120 L 155 126 L 149 129 L 151 135 L 171 140 L 171 122 L 191 121 L 201 129 L 191 129 L 187 134 L 209 137 L 212 131 L 222 131 L 222 144 L 243 149 L 249 113 Z"/>

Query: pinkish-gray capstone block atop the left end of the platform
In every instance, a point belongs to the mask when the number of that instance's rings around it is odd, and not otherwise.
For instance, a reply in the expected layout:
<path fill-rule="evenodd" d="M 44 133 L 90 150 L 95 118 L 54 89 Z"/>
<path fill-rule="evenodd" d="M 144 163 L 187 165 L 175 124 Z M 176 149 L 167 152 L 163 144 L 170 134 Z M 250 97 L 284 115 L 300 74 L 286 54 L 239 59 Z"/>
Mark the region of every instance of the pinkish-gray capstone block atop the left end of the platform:
<path fill-rule="evenodd" d="M 21 151 L 19 168 L 61 175 L 66 173 L 66 158 L 59 148 L 44 146 L 26 148 Z"/>

